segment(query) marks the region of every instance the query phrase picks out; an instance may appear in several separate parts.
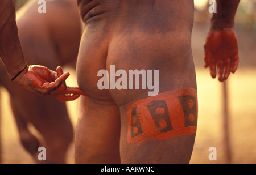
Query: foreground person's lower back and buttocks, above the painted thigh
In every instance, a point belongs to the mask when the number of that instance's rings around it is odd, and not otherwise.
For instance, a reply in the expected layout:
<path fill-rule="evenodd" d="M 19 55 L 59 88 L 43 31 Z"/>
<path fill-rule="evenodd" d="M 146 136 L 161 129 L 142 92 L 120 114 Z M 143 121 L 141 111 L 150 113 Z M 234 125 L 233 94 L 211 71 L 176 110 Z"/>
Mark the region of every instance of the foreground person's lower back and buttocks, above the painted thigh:
<path fill-rule="evenodd" d="M 80 88 L 90 96 L 110 101 L 118 97 L 115 103 L 122 106 L 134 100 L 131 93 L 141 94 L 129 90 L 121 98 L 122 91 L 99 90 L 97 72 L 110 72 L 110 65 L 124 70 L 158 69 L 159 77 L 170 83 L 159 82 L 159 92 L 196 87 L 191 51 L 193 1 L 79 2 L 86 28 L 77 76 Z"/>

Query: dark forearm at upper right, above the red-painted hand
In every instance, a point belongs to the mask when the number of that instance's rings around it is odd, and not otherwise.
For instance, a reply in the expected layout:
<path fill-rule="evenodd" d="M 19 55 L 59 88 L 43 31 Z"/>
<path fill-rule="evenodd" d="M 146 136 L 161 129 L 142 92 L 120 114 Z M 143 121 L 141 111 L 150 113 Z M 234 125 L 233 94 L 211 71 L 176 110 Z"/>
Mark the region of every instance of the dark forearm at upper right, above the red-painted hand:
<path fill-rule="evenodd" d="M 212 16 L 212 27 L 232 28 L 234 27 L 234 17 L 240 0 L 216 0 L 217 13 Z"/>

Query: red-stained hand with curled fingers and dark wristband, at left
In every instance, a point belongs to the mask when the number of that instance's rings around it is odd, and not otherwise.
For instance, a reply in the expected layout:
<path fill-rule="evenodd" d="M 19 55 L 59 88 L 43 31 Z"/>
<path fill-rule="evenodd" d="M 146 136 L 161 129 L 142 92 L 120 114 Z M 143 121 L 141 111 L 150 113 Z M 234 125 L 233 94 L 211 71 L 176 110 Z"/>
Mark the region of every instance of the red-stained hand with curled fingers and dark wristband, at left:
<path fill-rule="evenodd" d="M 56 72 L 44 66 L 27 66 L 13 80 L 24 88 L 34 91 L 39 95 L 55 96 L 60 101 L 75 100 L 80 95 L 85 95 L 80 88 L 67 87 L 65 80 L 69 73 L 63 73 L 62 67 L 57 67 Z"/>

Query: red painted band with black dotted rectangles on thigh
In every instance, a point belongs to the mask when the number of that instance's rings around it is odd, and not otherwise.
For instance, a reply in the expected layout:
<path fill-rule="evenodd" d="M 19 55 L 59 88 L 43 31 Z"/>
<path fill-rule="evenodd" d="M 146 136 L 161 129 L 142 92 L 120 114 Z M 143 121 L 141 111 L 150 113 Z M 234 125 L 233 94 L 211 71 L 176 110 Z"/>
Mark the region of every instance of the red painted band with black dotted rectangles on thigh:
<path fill-rule="evenodd" d="M 180 88 L 127 106 L 128 143 L 196 133 L 197 91 Z"/>

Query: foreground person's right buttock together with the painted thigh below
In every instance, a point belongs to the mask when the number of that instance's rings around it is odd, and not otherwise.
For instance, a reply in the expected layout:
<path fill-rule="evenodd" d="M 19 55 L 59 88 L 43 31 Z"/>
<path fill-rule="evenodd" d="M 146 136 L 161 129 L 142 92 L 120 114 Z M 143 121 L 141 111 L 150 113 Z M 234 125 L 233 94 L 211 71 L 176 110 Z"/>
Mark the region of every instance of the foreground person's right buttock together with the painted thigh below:
<path fill-rule="evenodd" d="M 197 126 L 192 53 L 185 44 L 158 42 L 123 37 L 108 50 L 110 95 L 121 113 L 122 163 L 189 163 L 191 157 Z"/>

